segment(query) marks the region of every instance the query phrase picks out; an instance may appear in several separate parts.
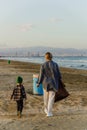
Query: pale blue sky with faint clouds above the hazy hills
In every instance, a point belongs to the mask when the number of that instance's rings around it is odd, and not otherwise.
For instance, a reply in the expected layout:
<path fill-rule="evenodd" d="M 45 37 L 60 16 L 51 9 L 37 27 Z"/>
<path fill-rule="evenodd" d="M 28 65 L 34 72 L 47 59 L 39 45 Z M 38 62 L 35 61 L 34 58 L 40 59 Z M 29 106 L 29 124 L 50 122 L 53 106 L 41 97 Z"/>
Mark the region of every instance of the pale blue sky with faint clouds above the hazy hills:
<path fill-rule="evenodd" d="M 87 0 L 0 0 L 0 48 L 87 49 Z"/>

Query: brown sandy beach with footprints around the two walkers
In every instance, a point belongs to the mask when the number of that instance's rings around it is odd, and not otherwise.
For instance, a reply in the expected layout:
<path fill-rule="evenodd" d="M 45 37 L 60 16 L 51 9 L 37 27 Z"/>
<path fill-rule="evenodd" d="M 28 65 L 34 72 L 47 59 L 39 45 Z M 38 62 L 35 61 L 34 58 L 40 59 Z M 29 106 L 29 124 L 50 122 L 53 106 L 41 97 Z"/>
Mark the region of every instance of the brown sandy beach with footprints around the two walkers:
<path fill-rule="evenodd" d="M 49 118 L 43 111 L 43 96 L 32 94 L 33 74 L 39 69 L 39 64 L 0 60 L 0 130 L 87 130 L 87 70 L 60 68 L 70 95 L 54 104 L 54 116 Z M 19 75 L 27 93 L 21 119 L 10 100 Z"/>

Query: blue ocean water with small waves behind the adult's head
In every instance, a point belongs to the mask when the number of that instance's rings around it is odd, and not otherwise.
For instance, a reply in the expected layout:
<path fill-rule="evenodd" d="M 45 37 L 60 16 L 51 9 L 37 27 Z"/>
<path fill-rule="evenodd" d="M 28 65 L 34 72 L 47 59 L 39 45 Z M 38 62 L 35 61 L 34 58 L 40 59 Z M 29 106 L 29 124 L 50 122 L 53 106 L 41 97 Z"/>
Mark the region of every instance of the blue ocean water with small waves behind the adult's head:
<path fill-rule="evenodd" d="M 1 57 L 0 59 L 24 61 L 42 64 L 45 62 L 44 57 Z M 58 63 L 60 67 L 76 68 L 87 70 L 86 56 L 59 56 L 54 57 L 53 60 Z"/>

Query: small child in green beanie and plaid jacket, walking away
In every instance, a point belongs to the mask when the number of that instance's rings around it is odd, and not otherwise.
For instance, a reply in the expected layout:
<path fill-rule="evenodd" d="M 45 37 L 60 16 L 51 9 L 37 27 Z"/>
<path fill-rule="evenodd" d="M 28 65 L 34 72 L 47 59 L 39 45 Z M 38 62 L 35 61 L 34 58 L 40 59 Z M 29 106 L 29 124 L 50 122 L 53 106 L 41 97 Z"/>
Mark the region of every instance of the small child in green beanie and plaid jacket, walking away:
<path fill-rule="evenodd" d="M 14 100 L 17 103 L 17 116 L 21 118 L 22 116 L 22 110 L 23 110 L 23 99 L 26 99 L 26 92 L 25 88 L 22 85 L 23 78 L 18 76 L 17 77 L 17 85 L 13 90 L 13 93 L 11 95 L 11 99 L 14 98 Z"/>

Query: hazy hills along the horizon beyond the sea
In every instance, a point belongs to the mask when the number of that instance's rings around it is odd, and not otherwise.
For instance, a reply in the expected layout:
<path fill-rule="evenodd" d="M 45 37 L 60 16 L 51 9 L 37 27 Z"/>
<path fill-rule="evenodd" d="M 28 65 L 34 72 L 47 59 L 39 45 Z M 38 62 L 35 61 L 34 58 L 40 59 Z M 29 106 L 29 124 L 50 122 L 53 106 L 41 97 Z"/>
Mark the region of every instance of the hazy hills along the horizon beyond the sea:
<path fill-rule="evenodd" d="M 4 48 L 0 49 L 0 56 L 43 56 L 50 51 L 54 56 L 87 56 L 86 49 L 29 47 L 29 48 Z"/>

